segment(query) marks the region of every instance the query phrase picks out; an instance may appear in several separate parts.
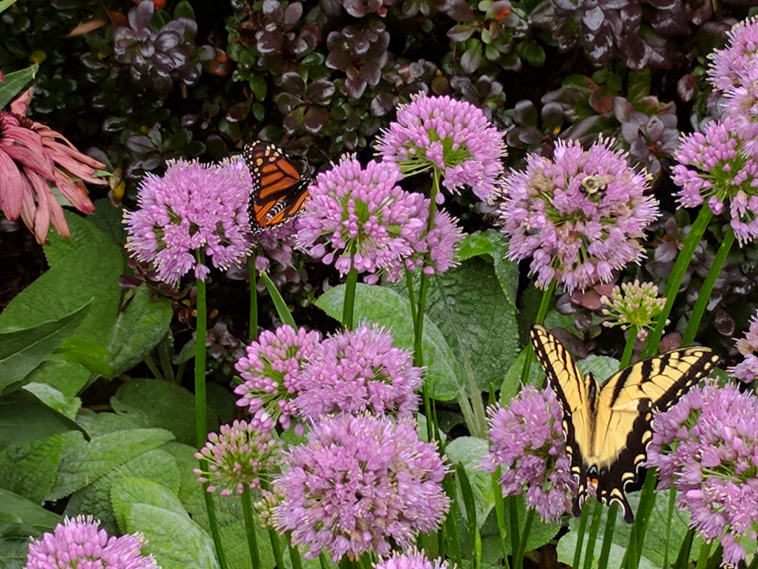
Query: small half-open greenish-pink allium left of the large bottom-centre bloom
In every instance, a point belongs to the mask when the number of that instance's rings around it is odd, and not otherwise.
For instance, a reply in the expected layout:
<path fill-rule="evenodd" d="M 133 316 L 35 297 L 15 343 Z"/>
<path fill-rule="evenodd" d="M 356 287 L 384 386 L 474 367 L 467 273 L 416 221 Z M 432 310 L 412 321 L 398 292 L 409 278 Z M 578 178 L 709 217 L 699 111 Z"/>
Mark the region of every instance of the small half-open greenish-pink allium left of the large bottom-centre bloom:
<path fill-rule="evenodd" d="M 274 439 L 271 430 L 255 429 L 246 421 L 221 425 L 218 430 L 221 434 L 208 433 L 208 442 L 195 453 L 199 461 L 208 463 L 207 472 L 193 470 L 197 481 L 210 483 L 208 492 L 221 489 L 222 496 L 242 494 L 245 487 L 260 489 L 261 476 L 267 476 L 271 466 L 277 464 L 281 441 Z"/>

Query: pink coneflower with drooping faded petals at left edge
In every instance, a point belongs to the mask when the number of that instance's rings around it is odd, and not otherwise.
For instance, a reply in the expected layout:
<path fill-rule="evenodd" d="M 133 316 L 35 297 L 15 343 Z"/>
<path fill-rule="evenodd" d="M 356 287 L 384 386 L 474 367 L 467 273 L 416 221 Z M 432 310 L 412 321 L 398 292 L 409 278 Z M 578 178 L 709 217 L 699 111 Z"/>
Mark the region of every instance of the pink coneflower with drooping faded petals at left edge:
<path fill-rule="evenodd" d="M 96 178 L 105 165 L 79 152 L 57 131 L 24 117 L 26 105 L 17 101 L 11 109 L 0 111 L 0 209 L 8 219 L 20 216 L 40 244 L 47 240 L 51 223 L 58 234 L 69 237 L 52 187 L 80 212 L 92 213 L 95 206 L 83 182 L 108 184 Z"/>

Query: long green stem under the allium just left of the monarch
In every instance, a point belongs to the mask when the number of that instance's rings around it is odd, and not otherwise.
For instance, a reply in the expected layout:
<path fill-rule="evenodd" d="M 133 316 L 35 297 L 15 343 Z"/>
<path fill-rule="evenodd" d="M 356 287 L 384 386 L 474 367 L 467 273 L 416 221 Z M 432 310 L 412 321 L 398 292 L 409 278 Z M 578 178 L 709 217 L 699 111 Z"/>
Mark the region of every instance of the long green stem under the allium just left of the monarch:
<path fill-rule="evenodd" d="M 202 253 L 197 253 L 198 262 L 202 262 Z M 208 438 L 208 406 L 205 397 L 205 335 L 208 330 L 207 308 L 205 306 L 205 281 L 198 280 L 197 284 L 197 316 L 196 316 L 196 339 L 195 339 L 195 429 L 197 448 L 205 445 Z M 200 461 L 200 470 L 208 471 L 207 461 Z M 203 489 L 208 488 L 208 483 Z M 203 492 L 205 498 L 205 511 L 208 512 L 208 523 L 211 526 L 211 536 L 216 547 L 218 564 L 221 569 L 227 569 L 227 560 L 221 545 L 221 533 L 218 531 L 218 519 L 213 505 L 213 495 Z"/>

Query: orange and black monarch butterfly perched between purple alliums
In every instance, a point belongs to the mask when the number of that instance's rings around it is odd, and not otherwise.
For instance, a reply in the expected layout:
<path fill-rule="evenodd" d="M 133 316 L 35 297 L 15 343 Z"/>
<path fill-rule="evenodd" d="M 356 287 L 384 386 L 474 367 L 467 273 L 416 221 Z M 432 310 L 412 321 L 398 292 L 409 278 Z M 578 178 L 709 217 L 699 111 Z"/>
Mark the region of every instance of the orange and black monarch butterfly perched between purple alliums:
<path fill-rule="evenodd" d="M 256 231 L 270 229 L 297 215 L 308 199 L 309 178 L 301 178 L 279 146 L 255 140 L 243 148 L 252 176 L 250 219 Z"/>

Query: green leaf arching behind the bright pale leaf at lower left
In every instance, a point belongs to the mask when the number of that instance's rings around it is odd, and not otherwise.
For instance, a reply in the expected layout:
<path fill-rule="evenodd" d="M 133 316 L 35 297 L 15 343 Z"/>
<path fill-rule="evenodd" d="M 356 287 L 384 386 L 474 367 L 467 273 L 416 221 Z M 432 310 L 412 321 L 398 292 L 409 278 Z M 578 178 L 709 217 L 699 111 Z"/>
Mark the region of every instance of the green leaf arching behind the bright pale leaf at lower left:
<path fill-rule="evenodd" d="M 100 476 L 92 484 L 74 492 L 66 505 L 65 513 L 73 516 L 86 512 L 100 520 L 102 527 L 106 530 L 116 533 L 118 524 L 112 499 L 113 487 L 124 478 L 149 480 L 150 483 L 172 492 L 174 496 L 179 492 L 180 472 L 176 459 L 161 448 L 154 448 L 152 451 L 139 454 L 105 476 Z M 195 483 L 200 486 L 197 479 Z"/>

